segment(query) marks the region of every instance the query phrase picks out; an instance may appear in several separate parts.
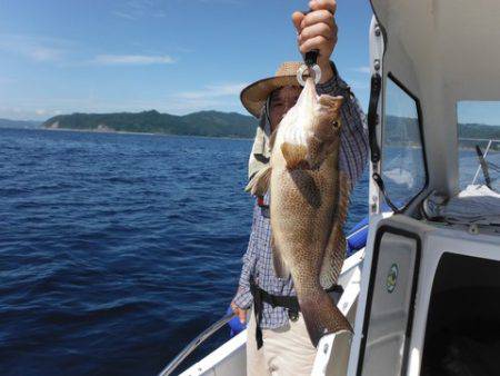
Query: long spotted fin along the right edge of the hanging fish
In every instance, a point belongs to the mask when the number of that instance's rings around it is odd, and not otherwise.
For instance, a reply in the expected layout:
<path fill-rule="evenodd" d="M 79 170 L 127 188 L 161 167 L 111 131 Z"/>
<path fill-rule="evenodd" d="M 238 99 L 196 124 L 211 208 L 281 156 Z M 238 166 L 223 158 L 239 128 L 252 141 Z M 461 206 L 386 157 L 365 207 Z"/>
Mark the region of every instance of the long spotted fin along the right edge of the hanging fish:
<path fill-rule="evenodd" d="M 338 201 L 333 216 L 333 226 L 324 249 L 320 273 L 320 283 L 323 288 L 330 288 L 336 285 L 342 270 L 347 249 L 343 224 L 349 208 L 349 178 L 346 174 L 339 172 Z"/>

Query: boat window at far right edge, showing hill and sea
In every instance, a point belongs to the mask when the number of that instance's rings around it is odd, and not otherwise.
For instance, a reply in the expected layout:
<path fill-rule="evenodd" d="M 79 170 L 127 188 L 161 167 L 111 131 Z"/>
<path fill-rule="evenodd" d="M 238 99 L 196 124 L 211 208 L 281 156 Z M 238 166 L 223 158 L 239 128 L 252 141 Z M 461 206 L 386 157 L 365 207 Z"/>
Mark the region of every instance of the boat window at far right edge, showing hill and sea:
<path fill-rule="evenodd" d="M 471 185 L 500 192 L 500 102 L 457 105 L 460 190 Z"/>

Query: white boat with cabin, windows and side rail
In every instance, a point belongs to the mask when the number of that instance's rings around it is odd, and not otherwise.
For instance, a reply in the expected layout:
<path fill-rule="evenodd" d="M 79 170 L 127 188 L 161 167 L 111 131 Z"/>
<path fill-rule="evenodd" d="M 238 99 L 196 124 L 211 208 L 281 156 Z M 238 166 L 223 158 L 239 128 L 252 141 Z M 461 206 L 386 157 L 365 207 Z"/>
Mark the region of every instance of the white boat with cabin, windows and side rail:
<path fill-rule="evenodd" d="M 462 166 L 457 111 L 500 102 L 500 2 L 370 3 L 368 239 L 338 301 L 354 333 L 324 335 L 312 375 L 500 375 L 500 195 L 489 156 Z M 246 375 L 246 342 L 180 375 Z"/>

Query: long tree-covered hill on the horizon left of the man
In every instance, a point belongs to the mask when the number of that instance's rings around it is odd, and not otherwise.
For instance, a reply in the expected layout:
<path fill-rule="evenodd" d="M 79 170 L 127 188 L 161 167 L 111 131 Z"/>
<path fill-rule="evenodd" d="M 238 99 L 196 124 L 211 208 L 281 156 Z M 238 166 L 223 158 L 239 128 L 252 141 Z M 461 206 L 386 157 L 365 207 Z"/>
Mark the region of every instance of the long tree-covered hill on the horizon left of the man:
<path fill-rule="evenodd" d="M 256 135 L 257 120 L 237 112 L 200 111 L 186 116 L 174 116 L 151 110 L 143 112 L 59 115 L 44 121 L 42 127 L 48 129 L 252 138 Z"/>

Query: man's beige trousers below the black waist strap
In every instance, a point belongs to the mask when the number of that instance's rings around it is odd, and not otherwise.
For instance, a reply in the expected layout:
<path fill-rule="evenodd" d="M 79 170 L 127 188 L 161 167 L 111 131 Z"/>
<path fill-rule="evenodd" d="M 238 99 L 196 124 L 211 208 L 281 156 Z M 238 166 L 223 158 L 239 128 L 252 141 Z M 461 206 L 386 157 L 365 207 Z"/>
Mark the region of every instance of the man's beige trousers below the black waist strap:
<path fill-rule="evenodd" d="M 297 321 L 278 329 L 262 329 L 263 346 L 256 343 L 256 317 L 250 309 L 247 339 L 247 376 L 311 375 L 316 348 L 311 345 L 306 323 L 299 314 Z"/>

